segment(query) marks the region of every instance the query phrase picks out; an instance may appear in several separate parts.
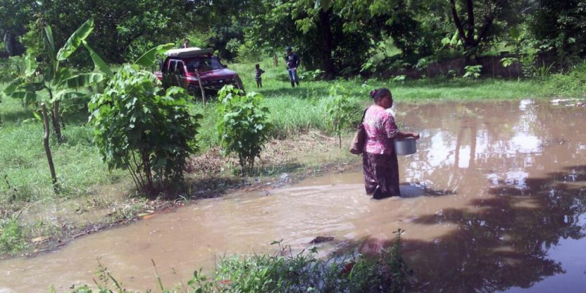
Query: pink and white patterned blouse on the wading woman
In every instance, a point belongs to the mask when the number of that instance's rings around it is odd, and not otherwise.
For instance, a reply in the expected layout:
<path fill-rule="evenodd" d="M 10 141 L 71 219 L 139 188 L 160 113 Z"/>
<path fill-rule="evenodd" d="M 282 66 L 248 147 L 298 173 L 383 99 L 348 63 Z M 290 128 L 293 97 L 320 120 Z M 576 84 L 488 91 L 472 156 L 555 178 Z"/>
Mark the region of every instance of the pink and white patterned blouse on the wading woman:
<path fill-rule="evenodd" d="M 399 131 L 393 114 L 372 105 L 366 110 L 363 124 L 366 130 L 364 151 L 370 154 L 393 154 L 393 138 Z"/>

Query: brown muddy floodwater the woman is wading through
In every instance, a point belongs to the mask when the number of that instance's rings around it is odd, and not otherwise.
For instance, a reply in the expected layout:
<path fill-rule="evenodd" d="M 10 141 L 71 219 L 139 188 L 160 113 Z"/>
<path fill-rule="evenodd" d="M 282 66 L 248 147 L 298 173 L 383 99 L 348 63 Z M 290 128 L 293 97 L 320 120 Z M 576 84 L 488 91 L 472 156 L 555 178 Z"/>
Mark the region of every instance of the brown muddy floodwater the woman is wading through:
<path fill-rule="evenodd" d="M 422 137 L 400 156 L 404 197 L 372 200 L 362 171 L 200 200 L 101 231 L 52 253 L 0 261 L 0 292 L 93 284 L 97 258 L 125 287 L 210 271 L 223 254 L 377 247 L 405 230 L 411 292 L 586 292 L 586 110 L 548 101 L 403 104 Z M 285 176 L 285 175 L 283 175 Z"/>

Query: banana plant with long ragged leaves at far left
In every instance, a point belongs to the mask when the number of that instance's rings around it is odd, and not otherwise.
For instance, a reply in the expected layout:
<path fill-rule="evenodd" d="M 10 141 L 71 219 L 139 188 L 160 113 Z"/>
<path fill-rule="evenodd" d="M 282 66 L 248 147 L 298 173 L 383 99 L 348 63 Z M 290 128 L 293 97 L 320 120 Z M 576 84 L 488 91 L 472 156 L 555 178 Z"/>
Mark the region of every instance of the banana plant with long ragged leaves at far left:
<path fill-rule="evenodd" d="M 12 80 L 4 89 L 4 95 L 18 98 L 25 104 L 46 103 L 51 109 L 53 131 L 58 141 L 62 141 L 61 127 L 59 124 L 59 103 L 73 97 L 83 97 L 87 94 L 79 91 L 80 88 L 90 84 L 99 83 L 104 79 L 101 73 L 74 74 L 73 70 L 62 64 L 83 43 L 90 48 L 85 40 L 94 29 L 94 20 L 88 19 L 67 39 L 65 45 L 55 50 L 53 32 L 50 26 L 43 30 L 43 43 L 49 56 L 43 70 L 30 55 L 25 58 L 25 73 Z M 90 48 L 91 49 L 91 48 Z M 90 50 L 90 53 L 93 50 Z M 95 62 L 95 60 L 94 60 Z M 96 64 L 96 67 L 99 65 Z M 40 71 L 43 71 L 42 73 Z M 40 95 L 40 91 L 46 91 L 48 96 Z"/>

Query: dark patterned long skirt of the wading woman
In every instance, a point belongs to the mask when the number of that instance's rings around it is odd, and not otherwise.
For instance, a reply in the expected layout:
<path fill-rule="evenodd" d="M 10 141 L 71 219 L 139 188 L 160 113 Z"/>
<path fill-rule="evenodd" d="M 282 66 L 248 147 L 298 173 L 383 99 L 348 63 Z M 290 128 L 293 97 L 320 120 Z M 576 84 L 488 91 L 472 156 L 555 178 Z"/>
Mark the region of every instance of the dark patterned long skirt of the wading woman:
<path fill-rule="evenodd" d="M 364 188 L 374 199 L 401 196 L 397 154 L 378 155 L 362 153 Z"/>

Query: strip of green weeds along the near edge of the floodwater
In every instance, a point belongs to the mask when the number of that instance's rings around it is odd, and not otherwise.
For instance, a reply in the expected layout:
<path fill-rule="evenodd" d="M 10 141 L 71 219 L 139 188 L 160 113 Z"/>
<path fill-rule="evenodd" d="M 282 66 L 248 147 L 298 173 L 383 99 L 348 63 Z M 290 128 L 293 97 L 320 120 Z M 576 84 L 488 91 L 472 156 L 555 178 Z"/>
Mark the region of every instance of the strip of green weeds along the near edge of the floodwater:
<path fill-rule="evenodd" d="M 97 288 L 88 285 L 69 293 L 138 293 L 115 281 L 115 276 L 100 264 Z M 270 292 L 404 292 L 408 285 L 408 270 L 401 255 L 400 239 L 376 255 L 355 251 L 318 258 L 316 248 L 292 253 L 280 247 L 274 254 L 253 254 L 224 257 L 216 272 L 206 276 L 195 271 L 186 284 L 163 287 L 158 278 L 156 291 L 176 293 L 270 293 Z M 113 281 L 113 282 L 110 282 Z M 113 284 L 112 284 L 113 283 Z M 109 286 L 108 286 L 109 285 Z M 152 288 L 154 289 L 154 288 Z M 151 291 L 148 291 L 151 292 Z"/>

